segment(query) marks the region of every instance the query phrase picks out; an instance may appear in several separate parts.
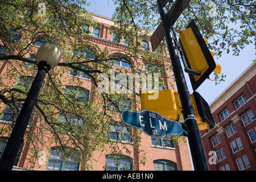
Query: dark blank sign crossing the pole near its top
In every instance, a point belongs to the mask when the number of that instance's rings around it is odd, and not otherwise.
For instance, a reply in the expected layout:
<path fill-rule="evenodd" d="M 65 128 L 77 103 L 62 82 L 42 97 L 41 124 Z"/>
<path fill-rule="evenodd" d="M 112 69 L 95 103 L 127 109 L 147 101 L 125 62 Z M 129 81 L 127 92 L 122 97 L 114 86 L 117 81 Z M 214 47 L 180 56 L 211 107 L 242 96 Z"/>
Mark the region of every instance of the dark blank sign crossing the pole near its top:
<path fill-rule="evenodd" d="M 168 11 L 166 15 L 169 28 L 171 28 L 174 25 L 177 18 L 179 18 L 179 16 L 183 12 L 183 10 L 188 6 L 188 3 L 190 1 L 191 0 L 176 0 L 172 4 L 171 9 Z M 163 40 L 164 36 L 165 35 L 164 35 L 163 23 L 161 22 L 150 37 L 152 51 L 154 51 L 155 48 L 158 47 L 158 44 Z"/>

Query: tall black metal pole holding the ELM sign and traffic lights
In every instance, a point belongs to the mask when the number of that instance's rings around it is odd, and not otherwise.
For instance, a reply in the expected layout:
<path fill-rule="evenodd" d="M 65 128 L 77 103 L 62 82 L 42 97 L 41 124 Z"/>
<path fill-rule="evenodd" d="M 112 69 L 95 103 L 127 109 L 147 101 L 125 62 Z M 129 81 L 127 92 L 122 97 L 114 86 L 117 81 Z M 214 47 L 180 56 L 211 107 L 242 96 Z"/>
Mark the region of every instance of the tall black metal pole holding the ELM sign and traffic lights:
<path fill-rule="evenodd" d="M 188 141 L 191 150 L 193 166 L 197 171 L 208 171 L 207 158 L 205 156 L 203 143 L 200 136 L 199 127 L 195 117 L 195 112 L 191 102 L 185 76 L 177 55 L 175 48 L 175 42 L 172 38 L 172 34 L 168 28 L 168 22 L 166 14 L 164 13 L 162 0 L 158 0 L 159 13 L 162 19 L 164 33 L 166 35 L 166 42 L 168 51 L 171 57 L 172 69 L 174 71 L 175 82 L 177 85 L 177 91 L 180 94 L 181 104 L 183 106 L 184 121 L 188 126 Z"/>

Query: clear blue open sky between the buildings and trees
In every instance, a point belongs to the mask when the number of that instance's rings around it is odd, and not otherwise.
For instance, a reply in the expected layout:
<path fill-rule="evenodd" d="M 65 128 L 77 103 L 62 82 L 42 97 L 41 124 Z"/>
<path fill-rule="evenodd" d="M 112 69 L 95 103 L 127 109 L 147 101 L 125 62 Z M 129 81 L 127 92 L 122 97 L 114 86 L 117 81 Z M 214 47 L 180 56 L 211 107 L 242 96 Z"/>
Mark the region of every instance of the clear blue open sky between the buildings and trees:
<path fill-rule="evenodd" d="M 114 4 L 112 0 L 90 0 L 90 2 L 91 5 L 89 7 L 85 7 L 85 9 L 90 13 L 106 16 L 108 18 L 112 17 L 114 12 Z M 232 84 L 234 80 L 236 80 L 238 76 L 241 75 L 243 71 L 245 71 L 246 68 L 253 63 L 252 60 L 254 59 L 256 59 L 254 44 L 250 44 L 242 49 L 239 56 L 233 56 L 232 53 L 222 53 L 222 56 L 219 59 L 214 57 L 214 61 L 221 65 L 221 73 L 226 75 L 225 81 L 215 85 L 214 81 L 205 80 L 196 91 L 199 92 L 204 100 L 210 105 L 216 97 L 218 97 L 230 84 Z M 184 75 L 189 92 L 193 93 L 188 73 L 184 73 Z M 210 78 L 214 80 L 213 73 L 210 75 Z"/>

